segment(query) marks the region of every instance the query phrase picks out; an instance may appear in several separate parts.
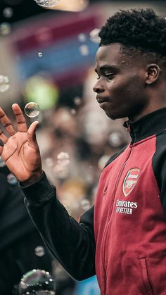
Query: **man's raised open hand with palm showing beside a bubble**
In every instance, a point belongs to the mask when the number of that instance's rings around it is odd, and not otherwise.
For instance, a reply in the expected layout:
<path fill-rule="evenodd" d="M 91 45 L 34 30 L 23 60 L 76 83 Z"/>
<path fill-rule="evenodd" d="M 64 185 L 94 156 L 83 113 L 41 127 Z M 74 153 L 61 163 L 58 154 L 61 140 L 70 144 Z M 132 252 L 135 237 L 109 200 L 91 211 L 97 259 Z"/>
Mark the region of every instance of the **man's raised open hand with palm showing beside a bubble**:
<path fill-rule="evenodd" d="M 8 134 L 6 136 L 0 130 L 0 139 L 4 144 L 0 146 L 0 156 L 20 182 L 29 184 L 42 175 L 41 157 L 35 136 L 38 121 L 33 122 L 27 130 L 20 106 L 14 103 L 12 108 L 17 121 L 17 130 L 14 130 L 6 113 L 0 108 L 0 121 Z"/>

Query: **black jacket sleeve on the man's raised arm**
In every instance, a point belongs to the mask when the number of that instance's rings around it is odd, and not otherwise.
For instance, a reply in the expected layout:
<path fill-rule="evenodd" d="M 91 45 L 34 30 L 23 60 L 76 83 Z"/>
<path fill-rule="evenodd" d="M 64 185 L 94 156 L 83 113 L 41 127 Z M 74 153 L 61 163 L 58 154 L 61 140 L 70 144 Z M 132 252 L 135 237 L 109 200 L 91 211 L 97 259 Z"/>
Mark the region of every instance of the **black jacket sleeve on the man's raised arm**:
<path fill-rule="evenodd" d="M 76 280 L 84 280 L 95 272 L 94 207 L 84 213 L 79 222 L 56 197 L 44 174 L 41 180 L 20 188 L 25 205 L 46 246 L 59 263 Z"/>

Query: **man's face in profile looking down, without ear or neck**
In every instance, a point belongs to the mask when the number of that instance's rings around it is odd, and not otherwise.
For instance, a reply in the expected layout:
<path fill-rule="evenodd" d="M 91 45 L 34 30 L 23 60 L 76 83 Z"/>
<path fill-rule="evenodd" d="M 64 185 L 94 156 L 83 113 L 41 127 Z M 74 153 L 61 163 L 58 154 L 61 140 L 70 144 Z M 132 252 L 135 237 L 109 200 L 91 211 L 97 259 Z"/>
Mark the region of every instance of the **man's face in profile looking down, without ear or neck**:
<path fill-rule="evenodd" d="M 96 99 L 109 118 L 136 120 L 146 108 L 146 67 L 120 52 L 120 44 L 100 46 L 96 53 Z"/>

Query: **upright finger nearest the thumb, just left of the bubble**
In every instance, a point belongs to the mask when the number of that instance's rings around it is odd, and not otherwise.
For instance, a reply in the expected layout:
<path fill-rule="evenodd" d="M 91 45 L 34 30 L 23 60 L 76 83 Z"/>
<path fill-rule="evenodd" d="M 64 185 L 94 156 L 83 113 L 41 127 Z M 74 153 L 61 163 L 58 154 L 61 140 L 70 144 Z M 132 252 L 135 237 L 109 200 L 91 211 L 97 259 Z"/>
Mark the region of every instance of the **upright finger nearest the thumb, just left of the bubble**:
<path fill-rule="evenodd" d="M 18 131 L 27 132 L 27 124 L 25 122 L 25 117 L 20 109 L 20 106 L 18 106 L 18 103 L 13 103 L 12 109 L 13 113 L 15 114 L 16 121 L 18 123 Z"/>

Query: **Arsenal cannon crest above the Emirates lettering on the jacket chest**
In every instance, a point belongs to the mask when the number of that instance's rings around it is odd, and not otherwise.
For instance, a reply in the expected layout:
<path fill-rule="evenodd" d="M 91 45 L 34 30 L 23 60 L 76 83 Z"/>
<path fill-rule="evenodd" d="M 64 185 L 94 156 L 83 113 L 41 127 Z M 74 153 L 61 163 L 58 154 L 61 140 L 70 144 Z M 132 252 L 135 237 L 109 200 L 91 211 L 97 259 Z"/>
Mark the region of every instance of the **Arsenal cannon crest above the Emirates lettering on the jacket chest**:
<path fill-rule="evenodd" d="M 125 196 L 128 196 L 134 189 L 136 182 L 139 179 L 139 172 L 140 172 L 139 168 L 133 168 L 127 172 L 127 175 L 125 177 L 125 180 L 123 182 L 123 187 L 122 187 L 123 194 L 125 194 Z"/>

